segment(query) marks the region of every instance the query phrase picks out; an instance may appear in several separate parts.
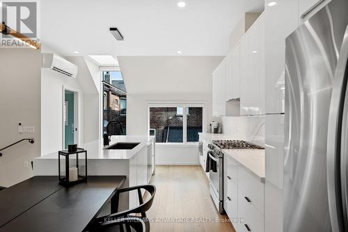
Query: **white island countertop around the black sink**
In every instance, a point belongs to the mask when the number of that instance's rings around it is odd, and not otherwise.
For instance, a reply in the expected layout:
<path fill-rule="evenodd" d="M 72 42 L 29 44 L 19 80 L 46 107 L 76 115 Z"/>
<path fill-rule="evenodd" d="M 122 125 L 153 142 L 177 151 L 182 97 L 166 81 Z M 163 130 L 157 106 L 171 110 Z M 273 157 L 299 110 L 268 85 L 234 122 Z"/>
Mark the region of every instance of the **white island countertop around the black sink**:
<path fill-rule="evenodd" d="M 131 150 L 104 150 L 104 146 L 101 145 L 99 140 L 79 145 L 79 148 L 87 150 L 88 160 L 129 160 L 144 146 L 147 146 L 149 142 L 153 141 L 153 139 L 155 139 L 155 137 L 152 136 L 111 136 L 110 146 L 118 142 L 140 143 Z M 58 151 L 35 158 L 35 160 L 42 159 L 58 159 Z"/>

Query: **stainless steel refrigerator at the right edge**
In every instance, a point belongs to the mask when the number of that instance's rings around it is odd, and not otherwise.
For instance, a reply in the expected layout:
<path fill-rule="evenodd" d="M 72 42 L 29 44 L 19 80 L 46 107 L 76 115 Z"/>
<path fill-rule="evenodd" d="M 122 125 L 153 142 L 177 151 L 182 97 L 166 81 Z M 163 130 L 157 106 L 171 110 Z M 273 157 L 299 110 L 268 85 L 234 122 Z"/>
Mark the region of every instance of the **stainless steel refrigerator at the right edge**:
<path fill-rule="evenodd" d="M 348 231 L 348 1 L 286 39 L 285 232 Z"/>

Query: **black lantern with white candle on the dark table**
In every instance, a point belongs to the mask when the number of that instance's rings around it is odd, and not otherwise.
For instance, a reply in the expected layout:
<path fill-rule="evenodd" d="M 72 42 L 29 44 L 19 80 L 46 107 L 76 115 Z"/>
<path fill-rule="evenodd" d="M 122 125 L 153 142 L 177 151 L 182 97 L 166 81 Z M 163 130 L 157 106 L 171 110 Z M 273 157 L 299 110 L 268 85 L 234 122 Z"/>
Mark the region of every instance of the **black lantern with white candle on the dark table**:
<path fill-rule="evenodd" d="M 84 159 L 80 159 L 80 156 L 84 156 Z M 82 160 L 84 160 L 84 167 L 82 165 Z M 64 186 L 86 182 L 87 150 L 77 148 L 77 150 L 74 151 L 58 151 L 58 178 L 59 183 Z"/>

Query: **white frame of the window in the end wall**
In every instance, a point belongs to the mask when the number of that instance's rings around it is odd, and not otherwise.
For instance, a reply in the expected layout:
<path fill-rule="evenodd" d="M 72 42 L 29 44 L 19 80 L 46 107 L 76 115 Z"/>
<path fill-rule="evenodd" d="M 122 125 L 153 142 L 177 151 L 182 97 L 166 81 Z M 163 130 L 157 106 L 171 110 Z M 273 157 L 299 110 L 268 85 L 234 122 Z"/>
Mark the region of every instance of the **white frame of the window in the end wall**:
<path fill-rule="evenodd" d="M 187 110 L 185 108 L 187 107 L 202 107 L 202 132 L 205 131 L 205 102 L 200 102 L 200 103 L 181 103 L 181 102 L 171 102 L 171 103 L 161 103 L 161 102 L 148 102 L 148 136 L 150 136 L 150 108 L 153 107 L 182 107 L 182 143 L 159 143 L 156 142 L 156 145 L 163 145 L 163 146 L 182 146 L 182 145 L 196 145 L 198 144 L 198 141 L 192 142 L 192 141 L 187 141 Z"/>

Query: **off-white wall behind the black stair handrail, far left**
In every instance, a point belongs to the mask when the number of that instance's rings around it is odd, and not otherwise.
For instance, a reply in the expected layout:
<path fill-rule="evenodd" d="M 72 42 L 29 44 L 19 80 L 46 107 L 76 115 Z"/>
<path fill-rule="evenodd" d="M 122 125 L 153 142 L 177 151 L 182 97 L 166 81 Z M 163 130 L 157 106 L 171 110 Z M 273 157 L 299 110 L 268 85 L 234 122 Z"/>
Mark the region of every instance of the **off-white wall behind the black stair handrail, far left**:
<path fill-rule="evenodd" d="M 33 138 L 3 150 L 0 186 L 9 187 L 30 178 L 31 160 L 40 156 L 40 50 L 0 49 L 0 148 L 19 139 Z M 35 127 L 33 134 L 19 134 L 18 123 Z M 29 167 L 24 168 L 24 162 Z"/>

